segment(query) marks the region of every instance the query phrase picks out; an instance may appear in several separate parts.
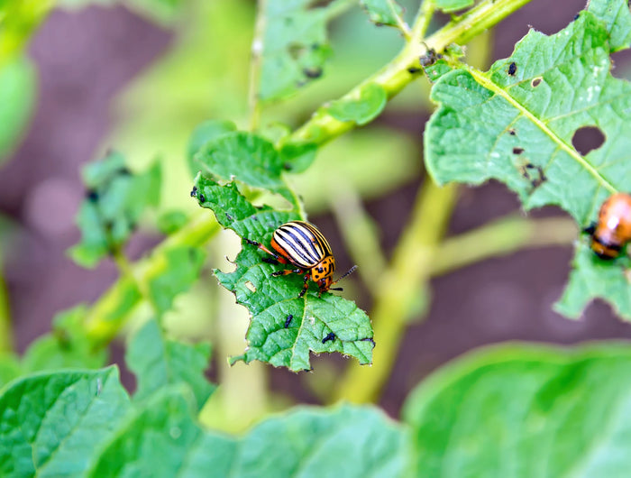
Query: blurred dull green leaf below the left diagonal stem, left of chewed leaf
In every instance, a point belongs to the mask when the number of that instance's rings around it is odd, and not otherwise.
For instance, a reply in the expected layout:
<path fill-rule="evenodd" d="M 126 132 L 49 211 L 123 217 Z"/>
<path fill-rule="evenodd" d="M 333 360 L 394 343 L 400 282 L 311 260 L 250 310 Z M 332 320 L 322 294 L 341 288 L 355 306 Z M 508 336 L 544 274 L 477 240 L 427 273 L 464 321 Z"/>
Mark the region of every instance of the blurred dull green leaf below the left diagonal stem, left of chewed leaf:
<path fill-rule="evenodd" d="M 162 388 L 186 383 L 195 395 L 197 409 L 206 403 L 215 385 L 204 371 L 210 361 L 210 344 L 188 345 L 170 340 L 156 320 L 150 320 L 133 336 L 126 362 L 135 373 L 135 400 L 146 400 Z"/>

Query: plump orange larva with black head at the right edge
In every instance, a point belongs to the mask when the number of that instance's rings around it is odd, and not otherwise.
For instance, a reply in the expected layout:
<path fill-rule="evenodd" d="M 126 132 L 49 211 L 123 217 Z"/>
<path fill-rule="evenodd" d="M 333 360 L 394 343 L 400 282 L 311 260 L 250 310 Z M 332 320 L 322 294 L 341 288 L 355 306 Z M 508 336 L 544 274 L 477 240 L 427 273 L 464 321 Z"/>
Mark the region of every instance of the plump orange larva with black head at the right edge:
<path fill-rule="evenodd" d="M 595 225 L 585 229 L 591 235 L 591 249 L 601 259 L 615 259 L 631 241 L 631 195 L 617 193 L 600 207 Z"/>

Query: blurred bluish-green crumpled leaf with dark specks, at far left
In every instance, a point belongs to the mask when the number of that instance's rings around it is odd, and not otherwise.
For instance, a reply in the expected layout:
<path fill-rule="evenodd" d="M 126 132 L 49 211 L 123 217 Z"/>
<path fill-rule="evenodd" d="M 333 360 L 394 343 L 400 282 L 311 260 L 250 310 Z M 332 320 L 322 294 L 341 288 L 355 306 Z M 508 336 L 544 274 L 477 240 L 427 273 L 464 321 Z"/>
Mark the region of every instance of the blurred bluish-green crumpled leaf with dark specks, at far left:
<path fill-rule="evenodd" d="M 75 262 L 94 267 L 108 253 L 123 247 L 142 212 L 160 200 L 160 163 L 133 174 L 124 158 L 111 152 L 84 169 L 87 198 L 78 213 L 81 242 L 69 250 Z"/>

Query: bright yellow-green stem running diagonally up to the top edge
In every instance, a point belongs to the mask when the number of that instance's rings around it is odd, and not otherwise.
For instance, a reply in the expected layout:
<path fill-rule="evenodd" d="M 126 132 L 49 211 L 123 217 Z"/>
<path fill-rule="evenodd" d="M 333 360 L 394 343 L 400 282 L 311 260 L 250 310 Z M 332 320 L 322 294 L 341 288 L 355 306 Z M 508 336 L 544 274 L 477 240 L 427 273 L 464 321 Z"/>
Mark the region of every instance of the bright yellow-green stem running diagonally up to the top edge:
<path fill-rule="evenodd" d="M 438 32 L 427 37 L 424 43 L 415 41 L 407 42 L 407 45 L 396 58 L 377 73 L 352 88 L 342 99 L 359 97 L 361 88 L 373 83 L 386 90 L 388 98 L 394 97 L 401 89 L 417 78 L 407 71 L 409 68 L 418 67 L 418 58 L 426 51 L 444 51 L 451 43 L 466 43 L 471 38 L 489 29 L 518 8 L 526 5 L 530 0 L 483 0 L 479 5 L 471 8 L 466 14 L 447 23 Z M 429 8 L 429 7 L 427 7 Z M 429 15 L 428 13 L 425 13 Z M 413 38 L 426 28 L 419 23 L 426 22 L 425 14 L 419 15 L 412 27 Z M 337 136 L 352 130 L 357 124 L 352 121 L 339 121 L 328 112 L 328 106 L 321 106 L 306 124 L 292 133 L 285 143 L 296 144 L 323 144 Z"/>

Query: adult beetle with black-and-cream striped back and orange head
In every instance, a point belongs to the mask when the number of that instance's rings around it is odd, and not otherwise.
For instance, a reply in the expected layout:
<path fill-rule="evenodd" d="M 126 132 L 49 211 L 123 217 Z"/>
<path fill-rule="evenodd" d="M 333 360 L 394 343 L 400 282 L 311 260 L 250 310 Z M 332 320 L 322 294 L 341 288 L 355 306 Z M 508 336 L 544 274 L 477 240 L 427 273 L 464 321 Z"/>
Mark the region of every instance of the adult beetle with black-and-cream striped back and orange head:
<path fill-rule="evenodd" d="M 273 259 L 265 262 L 291 264 L 297 269 L 276 271 L 271 275 L 280 276 L 291 273 L 305 274 L 304 285 L 298 297 L 303 297 L 309 288 L 308 280 L 313 280 L 320 288 L 318 297 L 327 290 L 342 290 L 331 286 L 338 280 L 342 280 L 348 274 L 357 269 L 352 266 L 340 279 L 333 280 L 335 271 L 335 258 L 331 246 L 325 236 L 317 230 L 315 225 L 304 221 L 290 221 L 280 225 L 271 236 L 271 252 L 261 243 L 246 239 L 248 244 L 257 246 L 261 251 L 269 253 Z"/>

